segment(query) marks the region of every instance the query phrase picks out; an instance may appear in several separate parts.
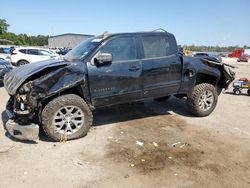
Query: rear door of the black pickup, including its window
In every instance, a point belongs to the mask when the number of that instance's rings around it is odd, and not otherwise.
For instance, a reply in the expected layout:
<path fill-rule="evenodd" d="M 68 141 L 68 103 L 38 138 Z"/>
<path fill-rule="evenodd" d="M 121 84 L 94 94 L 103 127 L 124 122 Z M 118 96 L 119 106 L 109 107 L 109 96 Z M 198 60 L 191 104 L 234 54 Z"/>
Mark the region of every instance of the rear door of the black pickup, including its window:
<path fill-rule="evenodd" d="M 160 97 L 178 92 L 182 64 L 174 37 L 167 34 L 141 36 L 143 97 Z"/>

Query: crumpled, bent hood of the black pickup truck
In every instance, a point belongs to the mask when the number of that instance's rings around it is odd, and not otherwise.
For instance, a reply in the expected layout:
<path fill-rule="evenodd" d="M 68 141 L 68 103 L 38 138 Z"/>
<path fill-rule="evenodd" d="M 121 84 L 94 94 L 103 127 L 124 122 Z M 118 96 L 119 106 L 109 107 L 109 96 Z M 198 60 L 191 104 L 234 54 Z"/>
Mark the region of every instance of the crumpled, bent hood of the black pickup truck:
<path fill-rule="evenodd" d="M 58 60 L 48 60 L 31 63 L 15 68 L 4 77 L 4 87 L 10 95 L 15 95 L 17 89 L 33 75 L 55 67 L 64 67 L 68 63 Z"/>

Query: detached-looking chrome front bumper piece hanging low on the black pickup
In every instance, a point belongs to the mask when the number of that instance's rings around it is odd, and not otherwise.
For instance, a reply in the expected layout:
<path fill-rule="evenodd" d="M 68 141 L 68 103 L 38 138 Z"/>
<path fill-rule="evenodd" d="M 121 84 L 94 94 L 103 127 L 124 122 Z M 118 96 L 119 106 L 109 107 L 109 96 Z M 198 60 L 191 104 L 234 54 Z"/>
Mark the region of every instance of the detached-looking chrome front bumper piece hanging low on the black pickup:
<path fill-rule="evenodd" d="M 34 123 L 19 125 L 14 120 L 9 119 L 6 123 L 6 129 L 10 135 L 19 140 L 37 140 L 39 138 L 39 126 Z"/>

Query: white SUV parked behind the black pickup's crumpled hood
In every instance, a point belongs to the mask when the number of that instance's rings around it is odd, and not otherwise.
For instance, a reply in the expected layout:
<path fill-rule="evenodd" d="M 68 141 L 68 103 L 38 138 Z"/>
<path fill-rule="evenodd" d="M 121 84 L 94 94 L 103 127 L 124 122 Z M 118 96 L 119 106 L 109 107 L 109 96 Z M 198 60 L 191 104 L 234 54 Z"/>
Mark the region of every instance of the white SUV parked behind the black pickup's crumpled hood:
<path fill-rule="evenodd" d="M 21 66 L 28 63 L 45 61 L 49 59 L 59 59 L 60 55 L 42 48 L 20 47 L 11 53 L 11 63 L 13 66 Z"/>

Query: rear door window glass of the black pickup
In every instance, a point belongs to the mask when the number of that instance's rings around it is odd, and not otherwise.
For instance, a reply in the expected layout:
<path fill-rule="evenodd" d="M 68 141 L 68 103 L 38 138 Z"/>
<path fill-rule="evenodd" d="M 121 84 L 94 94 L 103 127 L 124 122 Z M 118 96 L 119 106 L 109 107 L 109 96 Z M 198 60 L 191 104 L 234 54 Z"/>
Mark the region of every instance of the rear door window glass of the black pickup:
<path fill-rule="evenodd" d="M 171 55 L 170 40 L 166 36 L 144 36 L 142 44 L 145 58 L 156 58 Z"/>

